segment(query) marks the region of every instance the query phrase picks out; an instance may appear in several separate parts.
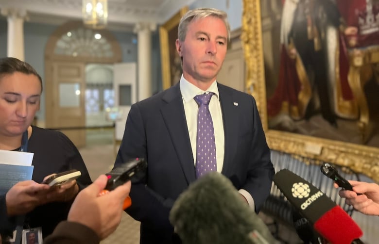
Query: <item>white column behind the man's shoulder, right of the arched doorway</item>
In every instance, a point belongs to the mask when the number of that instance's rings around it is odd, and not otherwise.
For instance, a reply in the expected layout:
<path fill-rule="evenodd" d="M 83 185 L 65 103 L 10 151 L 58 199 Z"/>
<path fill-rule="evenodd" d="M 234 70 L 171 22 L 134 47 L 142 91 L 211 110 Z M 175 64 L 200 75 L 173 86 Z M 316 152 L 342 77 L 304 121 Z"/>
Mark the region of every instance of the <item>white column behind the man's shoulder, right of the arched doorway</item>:
<path fill-rule="evenodd" d="M 138 101 L 152 95 L 151 32 L 155 28 L 152 23 L 138 23 L 134 29 L 138 33 Z"/>

